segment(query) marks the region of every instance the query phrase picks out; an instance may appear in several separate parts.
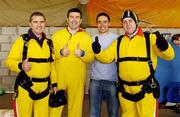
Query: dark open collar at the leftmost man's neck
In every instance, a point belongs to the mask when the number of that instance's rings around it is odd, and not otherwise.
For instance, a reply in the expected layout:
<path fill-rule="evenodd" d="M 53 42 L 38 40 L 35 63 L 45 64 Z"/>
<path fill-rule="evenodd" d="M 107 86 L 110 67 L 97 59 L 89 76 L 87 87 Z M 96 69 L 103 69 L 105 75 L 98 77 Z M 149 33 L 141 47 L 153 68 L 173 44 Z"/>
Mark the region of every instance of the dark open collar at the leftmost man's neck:
<path fill-rule="evenodd" d="M 30 38 L 35 39 L 35 40 L 38 42 L 38 44 L 42 47 L 43 42 L 44 42 L 44 40 L 45 40 L 45 38 L 46 38 L 45 33 L 42 33 L 42 38 L 39 39 L 39 38 L 32 32 L 32 30 L 29 29 L 28 35 L 29 35 Z"/>

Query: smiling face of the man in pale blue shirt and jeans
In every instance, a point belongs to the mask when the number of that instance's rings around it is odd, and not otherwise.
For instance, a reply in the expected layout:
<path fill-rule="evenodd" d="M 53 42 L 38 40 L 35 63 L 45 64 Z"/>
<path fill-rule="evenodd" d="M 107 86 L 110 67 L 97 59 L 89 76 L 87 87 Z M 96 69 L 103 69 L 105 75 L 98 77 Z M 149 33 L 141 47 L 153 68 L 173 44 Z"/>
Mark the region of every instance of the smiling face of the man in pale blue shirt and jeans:
<path fill-rule="evenodd" d="M 109 31 L 110 22 L 106 16 L 99 16 L 97 18 L 96 25 L 100 34 L 107 33 Z"/>

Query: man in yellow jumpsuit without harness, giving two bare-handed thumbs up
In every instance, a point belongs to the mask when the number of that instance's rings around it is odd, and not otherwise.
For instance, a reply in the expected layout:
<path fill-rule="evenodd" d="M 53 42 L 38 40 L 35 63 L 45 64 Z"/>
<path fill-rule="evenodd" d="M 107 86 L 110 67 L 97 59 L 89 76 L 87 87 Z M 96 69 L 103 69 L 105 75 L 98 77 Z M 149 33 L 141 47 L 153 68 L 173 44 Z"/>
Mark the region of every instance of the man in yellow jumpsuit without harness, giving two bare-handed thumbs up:
<path fill-rule="evenodd" d="M 67 13 L 68 27 L 52 36 L 58 89 L 67 90 L 68 117 L 82 117 L 86 63 L 94 60 L 92 38 L 80 28 L 82 13 L 72 8 Z M 62 114 L 63 106 L 50 109 L 50 116 Z"/>

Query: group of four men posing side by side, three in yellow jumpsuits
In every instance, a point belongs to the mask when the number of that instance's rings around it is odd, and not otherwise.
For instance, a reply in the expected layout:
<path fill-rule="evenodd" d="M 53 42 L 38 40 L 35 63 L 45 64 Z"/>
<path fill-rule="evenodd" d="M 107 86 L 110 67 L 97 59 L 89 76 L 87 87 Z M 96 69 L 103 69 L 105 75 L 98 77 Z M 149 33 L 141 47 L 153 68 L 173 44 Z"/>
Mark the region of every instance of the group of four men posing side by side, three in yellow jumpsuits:
<path fill-rule="evenodd" d="M 157 88 L 158 83 L 153 70 L 157 56 L 173 59 L 173 49 L 158 32 L 145 38 L 133 11 L 126 10 L 121 21 L 125 35 L 118 37 L 109 32 L 109 15 L 98 14 L 99 33 L 92 39 L 80 27 L 81 11 L 72 8 L 67 13 L 68 26 L 55 32 L 51 41 L 44 34 L 45 16 L 34 12 L 29 19 L 28 33 L 17 38 L 6 59 L 8 68 L 19 73 L 15 116 L 61 116 L 63 106 L 48 106 L 52 88 L 55 94 L 66 90 L 68 117 L 82 117 L 86 64 L 91 62 L 90 117 L 100 117 L 103 99 L 106 99 L 109 117 L 119 116 L 119 100 L 122 117 L 157 116 L 157 96 L 153 88 Z"/>

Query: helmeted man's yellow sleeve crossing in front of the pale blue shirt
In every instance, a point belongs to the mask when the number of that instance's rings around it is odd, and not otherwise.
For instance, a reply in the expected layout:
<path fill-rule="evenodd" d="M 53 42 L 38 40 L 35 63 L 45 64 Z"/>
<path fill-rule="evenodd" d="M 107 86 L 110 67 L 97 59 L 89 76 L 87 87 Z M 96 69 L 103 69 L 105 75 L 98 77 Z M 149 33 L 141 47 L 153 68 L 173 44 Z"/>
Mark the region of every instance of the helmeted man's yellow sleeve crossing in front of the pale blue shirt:
<path fill-rule="evenodd" d="M 106 50 L 101 49 L 101 52 L 99 54 L 95 54 L 96 59 L 98 59 L 102 63 L 111 63 L 116 59 L 117 56 L 116 46 L 117 40 L 114 40 Z"/>

